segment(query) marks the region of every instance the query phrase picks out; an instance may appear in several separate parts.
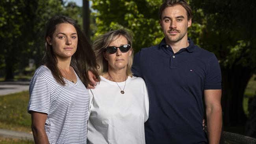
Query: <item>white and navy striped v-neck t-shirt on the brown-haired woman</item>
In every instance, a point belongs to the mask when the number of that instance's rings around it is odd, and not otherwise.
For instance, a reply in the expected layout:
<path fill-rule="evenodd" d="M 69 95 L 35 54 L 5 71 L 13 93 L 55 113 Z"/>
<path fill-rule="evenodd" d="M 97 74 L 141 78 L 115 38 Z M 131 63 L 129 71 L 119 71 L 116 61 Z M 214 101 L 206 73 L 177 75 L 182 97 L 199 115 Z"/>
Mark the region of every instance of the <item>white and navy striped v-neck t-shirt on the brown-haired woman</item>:
<path fill-rule="evenodd" d="M 30 82 L 28 112 L 48 114 L 45 131 L 51 144 L 86 144 L 89 94 L 82 81 L 57 83 L 46 66 Z"/>

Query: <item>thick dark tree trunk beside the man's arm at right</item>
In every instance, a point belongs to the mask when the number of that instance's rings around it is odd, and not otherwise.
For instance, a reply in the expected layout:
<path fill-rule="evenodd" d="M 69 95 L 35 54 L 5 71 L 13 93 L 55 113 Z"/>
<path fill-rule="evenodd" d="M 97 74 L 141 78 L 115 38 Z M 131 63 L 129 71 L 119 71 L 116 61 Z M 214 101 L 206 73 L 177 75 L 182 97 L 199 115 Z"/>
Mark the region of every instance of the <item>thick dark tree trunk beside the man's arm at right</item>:
<path fill-rule="evenodd" d="M 247 120 L 243 111 L 243 96 L 249 79 L 253 74 L 250 67 L 233 65 L 221 67 L 222 100 L 224 126 L 244 126 Z"/>

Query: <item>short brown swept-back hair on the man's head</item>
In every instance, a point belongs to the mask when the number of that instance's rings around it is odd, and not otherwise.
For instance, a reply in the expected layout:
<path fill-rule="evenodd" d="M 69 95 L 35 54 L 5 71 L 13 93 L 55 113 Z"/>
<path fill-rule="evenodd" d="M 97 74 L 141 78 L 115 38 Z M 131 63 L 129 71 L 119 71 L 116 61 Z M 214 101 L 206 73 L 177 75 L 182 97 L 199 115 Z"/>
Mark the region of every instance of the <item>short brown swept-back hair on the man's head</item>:
<path fill-rule="evenodd" d="M 161 20 L 162 13 L 166 7 L 171 7 L 171 6 L 175 6 L 175 5 L 180 5 L 186 9 L 187 20 L 190 20 L 192 18 L 192 10 L 191 10 L 189 4 L 187 4 L 186 0 L 165 0 L 165 2 L 163 2 L 163 4 L 161 5 L 161 7 L 159 9 L 158 18 Z"/>

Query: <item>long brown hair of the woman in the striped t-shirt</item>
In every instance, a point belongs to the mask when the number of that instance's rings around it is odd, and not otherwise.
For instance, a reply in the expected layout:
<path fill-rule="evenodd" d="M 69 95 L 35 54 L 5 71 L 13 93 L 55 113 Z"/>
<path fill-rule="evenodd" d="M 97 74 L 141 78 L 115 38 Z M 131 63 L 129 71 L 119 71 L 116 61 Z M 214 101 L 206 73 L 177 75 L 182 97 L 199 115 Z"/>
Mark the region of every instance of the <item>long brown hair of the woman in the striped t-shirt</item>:
<path fill-rule="evenodd" d="M 51 70 L 52 75 L 59 84 L 63 86 L 65 85 L 63 75 L 57 66 L 56 54 L 52 50 L 52 46 L 48 44 L 46 40 L 47 37 L 52 38 L 52 35 L 56 30 L 56 26 L 62 23 L 71 24 L 76 28 L 78 44 L 76 52 L 71 57 L 70 65 L 74 68 L 76 74 L 81 79 L 83 84 L 87 86 L 89 84 L 88 70 L 90 70 L 96 76 L 96 78 L 100 79 L 97 71 L 96 57 L 91 45 L 89 44 L 82 30 L 79 28 L 78 24 L 76 24 L 76 22 L 69 17 L 58 15 L 51 18 L 47 22 L 45 33 L 45 55 L 42 59 L 42 64 L 46 65 Z"/>

